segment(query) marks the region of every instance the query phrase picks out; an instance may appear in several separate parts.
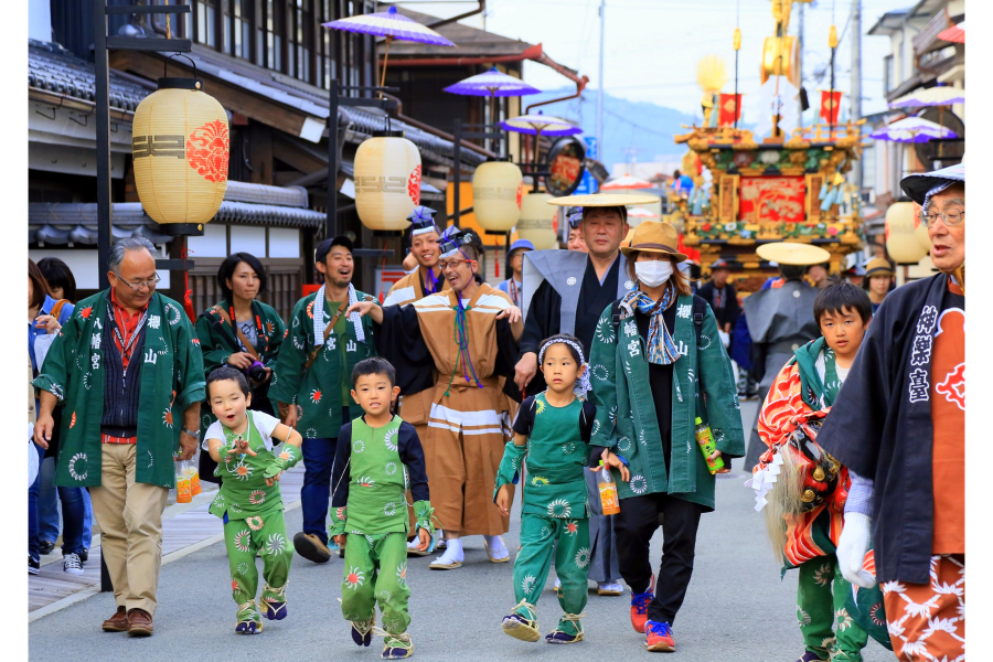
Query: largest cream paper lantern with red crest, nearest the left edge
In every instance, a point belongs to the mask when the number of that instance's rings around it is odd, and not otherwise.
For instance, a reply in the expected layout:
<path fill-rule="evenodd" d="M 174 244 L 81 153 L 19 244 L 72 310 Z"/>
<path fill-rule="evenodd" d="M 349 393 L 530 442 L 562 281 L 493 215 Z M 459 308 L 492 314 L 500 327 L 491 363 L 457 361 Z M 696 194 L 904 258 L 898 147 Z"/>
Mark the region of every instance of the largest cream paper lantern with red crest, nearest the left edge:
<path fill-rule="evenodd" d="M 159 78 L 131 125 L 138 199 L 161 225 L 207 223 L 227 190 L 227 113 L 196 78 Z"/>

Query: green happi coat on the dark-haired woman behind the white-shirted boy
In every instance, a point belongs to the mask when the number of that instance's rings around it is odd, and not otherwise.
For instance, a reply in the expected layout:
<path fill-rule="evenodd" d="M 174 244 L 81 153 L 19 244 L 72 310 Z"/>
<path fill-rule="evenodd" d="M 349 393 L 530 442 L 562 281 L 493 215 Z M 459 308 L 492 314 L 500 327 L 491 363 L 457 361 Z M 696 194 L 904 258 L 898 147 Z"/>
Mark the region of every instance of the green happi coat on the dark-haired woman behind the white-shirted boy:
<path fill-rule="evenodd" d="M 225 300 L 217 302 L 228 317 L 231 317 L 229 303 Z M 263 334 L 259 335 L 259 346 L 256 346 L 259 361 L 266 366 L 275 371 L 276 359 L 279 355 L 279 346 L 282 339 L 287 335 L 286 324 L 282 318 L 276 312 L 271 306 L 267 306 L 261 301 L 252 301 L 252 317 L 257 318 L 261 323 Z M 253 324 L 255 321 L 253 320 Z M 256 328 L 256 333 L 258 329 Z M 196 337 L 200 339 L 200 349 L 203 351 L 203 373 L 204 376 L 227 364 L 227 359 L 241 352 L 238 345 L 237 331 L 234 325 L 224 321 L 221 313 L 215 308 L 209 308 L 202 316 L 196 318 Z M 253 401 L 258 397 L 267 397 L 269 388 L 268 384 L 258 386 L 248 383 L 252 388 Z M 205 405 L 200 410 L 200 431 L 205 433 L 206 429 L 215 421 L 217 417 L 211 412 L 210 405 Z"/>

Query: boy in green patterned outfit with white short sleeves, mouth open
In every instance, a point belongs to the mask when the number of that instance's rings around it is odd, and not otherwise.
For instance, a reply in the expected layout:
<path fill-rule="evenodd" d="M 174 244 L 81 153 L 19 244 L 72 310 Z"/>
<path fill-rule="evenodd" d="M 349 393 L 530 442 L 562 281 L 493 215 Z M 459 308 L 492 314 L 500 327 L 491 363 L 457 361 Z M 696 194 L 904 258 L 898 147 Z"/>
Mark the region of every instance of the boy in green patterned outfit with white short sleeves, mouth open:
<path fill-rule="evenodd" d="M 258 572 L 255 556 L 263 557 L 259 606 L 269 620 L 286 618 L 286 580 L 292 547 L 286 540 L 279 477 L 301 457 L 300 434 L 261 412 L 249 412 L 252 389 L 242 371 L 222 366 L 206 381 L 207 398 L 217 420 L 207 428 L 203 448 L 217 462 L 223 479 L 210 511 L 224 521 L 224 542 L 231 563 L 231 590 L 238 606 L 235 632 L 261 632 L 261 615 L 255 602 Z M 273 449 L 282 441 L 277 455 Z"/>

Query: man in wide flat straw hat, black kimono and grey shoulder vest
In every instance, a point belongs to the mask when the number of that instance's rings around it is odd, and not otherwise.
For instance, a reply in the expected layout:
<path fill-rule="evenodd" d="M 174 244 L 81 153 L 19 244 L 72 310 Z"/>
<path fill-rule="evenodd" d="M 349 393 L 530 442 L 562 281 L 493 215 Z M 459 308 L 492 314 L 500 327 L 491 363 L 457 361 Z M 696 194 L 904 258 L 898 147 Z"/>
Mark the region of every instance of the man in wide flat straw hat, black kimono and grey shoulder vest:
<path fill-rule="evenodd" d="M 628 235 L 626 204 L 653 201 L 647 195 L 573 195 L 554 204 L 583 207 L 580 229 L 588 254 L 577 250 L 534 250 L 524 254 L 524 334 L 521 360 L 514 384 L 522 392 L 535 394 L 545 389 L 537 367 L 537 351 L 543 340 L 556 333 L 569 333 L 583 343 L 589 355 L 594 331 L 604 309 L 626 295 L 634 284 L 624 269 L 620 245 Z M 533 292 L 533 293 L 532 293 Z M 594 516 L 589 522 L 592 556 L 589 578 L 600 595 L 623 592 L 620 585 L 613 522 L 600 514 L 596 474 L 586 472 L 589 503 Z"/>

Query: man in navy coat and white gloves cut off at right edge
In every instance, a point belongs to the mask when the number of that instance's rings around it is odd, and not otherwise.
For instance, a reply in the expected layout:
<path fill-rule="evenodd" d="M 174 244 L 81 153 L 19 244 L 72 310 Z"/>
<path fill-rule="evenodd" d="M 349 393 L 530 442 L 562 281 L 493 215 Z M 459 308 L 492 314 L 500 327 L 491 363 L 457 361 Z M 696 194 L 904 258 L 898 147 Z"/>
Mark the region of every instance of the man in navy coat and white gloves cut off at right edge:
<path fill-rule="evenodd" d="M 883 301 L 818 444 L 852 473 L 839 567 L 880 585 L 897 658 L 964 660 L 965 164 L 900 186 L 940 273 Z"/>

